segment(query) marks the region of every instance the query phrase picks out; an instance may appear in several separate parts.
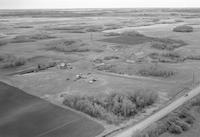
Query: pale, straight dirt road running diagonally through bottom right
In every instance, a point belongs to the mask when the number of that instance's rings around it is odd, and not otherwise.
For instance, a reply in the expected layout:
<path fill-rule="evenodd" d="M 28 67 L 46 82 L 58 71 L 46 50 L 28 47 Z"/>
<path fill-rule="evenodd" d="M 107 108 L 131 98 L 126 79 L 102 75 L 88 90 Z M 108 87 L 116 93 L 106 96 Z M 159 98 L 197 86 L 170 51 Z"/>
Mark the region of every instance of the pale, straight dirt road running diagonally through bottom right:
<path fill-rule="evenodd" d="M 134 125 L 133 127 L 128 128 L 125 131 L 122 131 L 121 133 L 115 135 L 114 137 L 131 137 L 136 131 L 141 131 L 145 129 L 146 127 L 150 126 L 152 123 L 160 120 L 182 104 L 184 104 L 186 101 L 190 100 L 191 98 L 197 96 L 200 93 L 200 86 L 191 90 L 187 95 L 183 95 L 182 97 L 178 98 L 168 106 L 164 107 L 157 113 L 151 115 L 150 117 L 144 119 L 140 123 Z"/>

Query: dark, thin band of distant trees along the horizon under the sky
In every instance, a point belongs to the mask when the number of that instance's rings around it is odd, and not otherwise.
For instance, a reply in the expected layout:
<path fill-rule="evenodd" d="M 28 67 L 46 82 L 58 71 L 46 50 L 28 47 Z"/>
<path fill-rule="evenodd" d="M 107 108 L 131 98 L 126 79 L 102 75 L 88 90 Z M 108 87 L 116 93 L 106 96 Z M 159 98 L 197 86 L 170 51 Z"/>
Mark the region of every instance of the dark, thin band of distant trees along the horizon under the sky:
<path fill-rule="evenodd" d="M 163 12 L 163 14 L 162 14 Z M 168 16 L 165 12 L 172 12 L 172 15 L 181 13 L 199 13 L 199 8 L 149 8 L 149 9 L 27 9 L 27 10 L 0 10 L 1 17 L 92 17 L 92 16 Z"/>

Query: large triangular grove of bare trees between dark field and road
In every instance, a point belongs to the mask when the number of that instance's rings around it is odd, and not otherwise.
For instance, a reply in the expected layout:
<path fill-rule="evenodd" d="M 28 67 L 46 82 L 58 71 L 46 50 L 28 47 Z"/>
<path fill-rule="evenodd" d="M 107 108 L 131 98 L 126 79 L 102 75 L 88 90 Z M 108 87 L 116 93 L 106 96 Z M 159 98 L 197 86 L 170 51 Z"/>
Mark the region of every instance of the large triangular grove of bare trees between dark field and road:
<path fill-rule="evenodd" d="M 63 102 L 73 109 L 92 117 L 119 124 L 122 120 L 134 117 L 157 99 L 155 92 L 138 91 L 135 93 L 112 93 L 97 96 L 67 96 Z"/>

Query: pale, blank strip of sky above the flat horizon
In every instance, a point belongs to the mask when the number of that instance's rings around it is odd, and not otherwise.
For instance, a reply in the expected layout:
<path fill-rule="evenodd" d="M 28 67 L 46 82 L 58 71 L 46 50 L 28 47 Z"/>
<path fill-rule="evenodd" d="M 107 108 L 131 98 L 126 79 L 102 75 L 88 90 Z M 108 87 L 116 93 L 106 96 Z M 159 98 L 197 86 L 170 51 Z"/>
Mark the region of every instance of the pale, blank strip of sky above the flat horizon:
<path fill-rule="evenodd" d="M 0 9 L 199 7 L 200 0 L 0 0 Z"/>

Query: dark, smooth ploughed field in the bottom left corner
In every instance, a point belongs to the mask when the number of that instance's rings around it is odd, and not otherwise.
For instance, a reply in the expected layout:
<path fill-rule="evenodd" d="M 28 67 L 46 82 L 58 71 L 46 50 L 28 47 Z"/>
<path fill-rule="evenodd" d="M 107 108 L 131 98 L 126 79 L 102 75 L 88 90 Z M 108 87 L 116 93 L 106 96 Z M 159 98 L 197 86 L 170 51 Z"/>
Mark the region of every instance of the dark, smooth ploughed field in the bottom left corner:
<path fill-rule="evenodd" d="M 5 83 L 0 83 L 0 89 L 2 137 L 93 137 L 104 130 L 84 116 Z"/>

